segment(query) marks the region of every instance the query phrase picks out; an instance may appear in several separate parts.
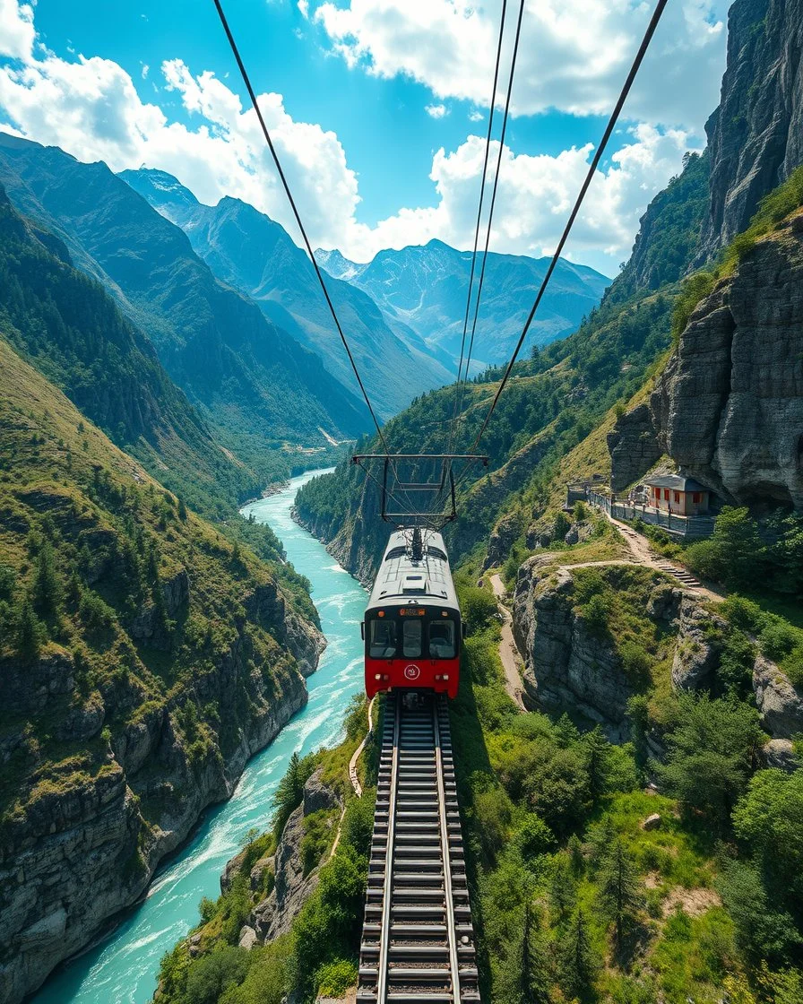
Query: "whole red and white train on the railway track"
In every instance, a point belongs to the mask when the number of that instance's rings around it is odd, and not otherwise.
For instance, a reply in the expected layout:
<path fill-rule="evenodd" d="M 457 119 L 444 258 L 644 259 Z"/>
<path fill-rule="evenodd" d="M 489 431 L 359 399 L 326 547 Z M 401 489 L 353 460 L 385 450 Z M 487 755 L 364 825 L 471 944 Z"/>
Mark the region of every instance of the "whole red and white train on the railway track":
<path fill-rule="evenodd" d="M 409 688 L 457 697 L 463 626 L 440 533 L 390 534 L 365 620 L 365 691 Z"/>

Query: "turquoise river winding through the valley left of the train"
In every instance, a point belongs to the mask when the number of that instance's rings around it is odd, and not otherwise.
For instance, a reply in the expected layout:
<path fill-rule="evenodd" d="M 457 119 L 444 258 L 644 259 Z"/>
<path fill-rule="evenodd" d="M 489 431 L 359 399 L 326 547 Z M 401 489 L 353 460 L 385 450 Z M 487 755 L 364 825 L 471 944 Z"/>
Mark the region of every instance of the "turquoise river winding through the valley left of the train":
<path fill-rule="evenodd" d="M 335 743 L 343 711 L 362 687 L 359 621 L 362 587 L 290 518 L 299 486 L 312 472 L 293 478 L 276 495 L 252 502 L 243 513 L 269 523 L 296 569 L 312 583 L 328 645 L 317 673 L 307 680 L 309 703 L 267 749 L 247 765 L 232 798 L 212 808 L 181 851 L 160 869 L 147 899 L 101 944 L 61 967 L 33 1004 L 145 1004 L 154 995 L 162 956 L 199 920 L 202 897 L 220 894 L 226 861 L 252 827 L 267 828 L 271 797 L 294 751 L 307 753 Z"/>

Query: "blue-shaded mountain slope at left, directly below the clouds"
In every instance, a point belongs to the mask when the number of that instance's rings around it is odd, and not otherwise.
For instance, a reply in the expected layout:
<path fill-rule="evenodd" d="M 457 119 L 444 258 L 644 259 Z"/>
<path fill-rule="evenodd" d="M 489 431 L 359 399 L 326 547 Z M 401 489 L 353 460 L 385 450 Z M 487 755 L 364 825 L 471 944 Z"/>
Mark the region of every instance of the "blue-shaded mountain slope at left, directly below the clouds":
<path fill-rule="evenodd" d="M 3 135 L 0 182 L 117 298 L 224 445 L 260 476 L 285 442 L 325 447 L 321 430 L 342 439 L 367 427 L 364 406 L 319 358 L 217 281 L 184 232 L 104 164 Z"/>

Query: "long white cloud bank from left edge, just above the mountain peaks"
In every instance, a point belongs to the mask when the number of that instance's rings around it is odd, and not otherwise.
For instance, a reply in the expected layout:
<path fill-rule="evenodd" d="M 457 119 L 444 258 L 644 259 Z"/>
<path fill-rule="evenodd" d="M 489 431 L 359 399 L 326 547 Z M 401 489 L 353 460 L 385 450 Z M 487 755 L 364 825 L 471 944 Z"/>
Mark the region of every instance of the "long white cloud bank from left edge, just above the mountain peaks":
<path fill-rule="evenodd" d="M 66 60 L 37 50 L 29 8 L 10 7 L 8 0 L 0 4 L 0 26 L 13 29 L 0 37 L 7 49 L 12 45 L 8 40 L 15 39 L 14 51 L 21 53 L 17 61 L 0 65 L 0 107 L 13 131 L 62 147 L 82 161 L 105 161 L 113 171 L 143 164 L 161 168 L 209 204 L 226 195 L 241 198 L 279 220 L 297 239 L 254 110 L 244 108 L 223 80 L 209 71 L 194 74 L 181 59 L 163 63 L 165 84 L 182 101 L 191 126 L 170 120 L 159 105 L 140 97 L 117 63 L 81 55 Z M 315 123 L 295 121 L 280 94 L 261 94 L 259 102 L 313 246 L 339 247 L 360 261 L 385 247 L 434 237 L 471 246 L 483 138 L 469 136 L 456 150 L 435 154 L 433 205 L 399 208 L 367 226 L 357 222 L 357 178 L 337 136 Z M 575 260 L 591 255 L 596 264 L 611 269 L 626 256 L 639 215 L 680 169 L 691 141 L 685 130 L 643 123 L 622 139 L 626 145 L 597 173 L 569 245 Z M 497 151 L 492 151 L 491 164 Z M 506 150 L 492 249 L 535 255 L 551 251 L 591 156 L 590 145 L 557 156 Z"/>

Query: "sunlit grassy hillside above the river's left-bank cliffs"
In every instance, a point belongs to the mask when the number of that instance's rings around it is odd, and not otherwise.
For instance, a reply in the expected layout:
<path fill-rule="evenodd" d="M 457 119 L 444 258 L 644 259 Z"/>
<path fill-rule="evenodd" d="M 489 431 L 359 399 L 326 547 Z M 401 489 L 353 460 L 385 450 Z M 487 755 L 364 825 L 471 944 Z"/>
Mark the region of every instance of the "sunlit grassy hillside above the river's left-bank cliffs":
<path fill-rule="evenodd" d="M 118 769 L 109 747 L 120 755 L 161 711 L 190 765 L 225 760 L 298 681 L 288 616 L 311 604 L 291 570 L 188 511 L 2 339 L 0 453 L 0 816 L 13 843 L 40 800 Z M 200 694 L 232 659 L 223 714 L 214 688 Z M 130 783 L 142 849 L 161 807 L 153 779 Z"/>

